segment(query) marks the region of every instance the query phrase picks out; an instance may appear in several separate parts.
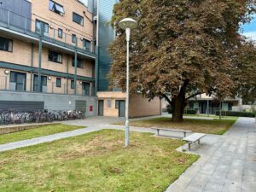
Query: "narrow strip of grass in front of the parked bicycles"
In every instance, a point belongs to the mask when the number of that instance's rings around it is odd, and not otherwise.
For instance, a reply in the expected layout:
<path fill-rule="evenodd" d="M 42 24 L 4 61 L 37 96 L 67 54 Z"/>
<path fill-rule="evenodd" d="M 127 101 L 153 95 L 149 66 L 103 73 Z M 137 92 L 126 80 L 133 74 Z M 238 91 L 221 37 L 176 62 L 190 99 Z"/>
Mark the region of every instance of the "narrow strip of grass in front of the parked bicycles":
<path fill-rule="evenodd" d="M 84 126 L 62 124 L 42 125 L 38 128 L 36 126 L 34 129 L 0 135 L 0 144 L 17 142 L 20 140 L 26 140 L 34 137 L 43 137 L 59 132 L 73 131 L 81 128 L 84 128 Z"/>

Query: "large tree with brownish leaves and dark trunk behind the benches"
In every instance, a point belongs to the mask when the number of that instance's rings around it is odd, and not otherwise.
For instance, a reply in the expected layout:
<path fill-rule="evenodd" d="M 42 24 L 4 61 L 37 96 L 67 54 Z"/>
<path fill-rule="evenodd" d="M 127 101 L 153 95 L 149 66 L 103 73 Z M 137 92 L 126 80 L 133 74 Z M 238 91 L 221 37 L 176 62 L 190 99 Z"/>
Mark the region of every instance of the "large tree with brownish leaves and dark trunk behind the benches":
<path fill-rule="evenodd" d="M 120 0 L 112 25 L 125 17 L 138 22 L 131 32 L 131 90 L 148 99 L 165 97 L 175 122 L 183 121 L 191 97 L 231 96 L 237 87 L 234 54 L 243 39 L 239 27 L 250 20 L 254 5 L 255 0 Z M 125 32 L 116 30 L 109 78 L 125 90 Z"/>

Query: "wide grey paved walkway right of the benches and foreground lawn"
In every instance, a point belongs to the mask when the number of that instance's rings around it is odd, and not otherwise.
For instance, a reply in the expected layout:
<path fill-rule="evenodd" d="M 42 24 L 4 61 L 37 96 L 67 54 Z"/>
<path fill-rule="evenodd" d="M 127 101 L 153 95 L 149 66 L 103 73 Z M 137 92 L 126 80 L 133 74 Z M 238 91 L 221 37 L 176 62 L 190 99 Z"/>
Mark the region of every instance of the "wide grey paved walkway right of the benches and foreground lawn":
<path fill-rule="evenodd" d="M 224 136 L 207 135 L 192 151 L 201 158 L 166 192 L 256 191 L 254 119 L 239 119 Z"/>

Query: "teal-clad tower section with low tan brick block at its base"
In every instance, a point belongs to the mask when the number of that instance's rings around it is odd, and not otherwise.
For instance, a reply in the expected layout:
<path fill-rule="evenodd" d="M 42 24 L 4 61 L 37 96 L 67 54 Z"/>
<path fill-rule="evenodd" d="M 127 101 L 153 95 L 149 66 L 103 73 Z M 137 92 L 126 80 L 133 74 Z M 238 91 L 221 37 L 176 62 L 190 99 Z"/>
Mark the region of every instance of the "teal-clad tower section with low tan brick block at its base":
<path fill-rule="evenodd" d="M 113 6 L 119 0 L 97 1 L 97 96 L 98 114 L 104 116 L 124 117 L 126 94 L 118 89 L 109 90 L 108 73 L 112 65 L 112 58 L 108 53 L 108 46 L 115 38 L 115 31 L 108 22 L 113 15 Z M 129 116 L 143 117 L 159 115 L 161 102 L 159 98 L 148 101 L 143 96 L 131 95 L 129 104 Z"/>

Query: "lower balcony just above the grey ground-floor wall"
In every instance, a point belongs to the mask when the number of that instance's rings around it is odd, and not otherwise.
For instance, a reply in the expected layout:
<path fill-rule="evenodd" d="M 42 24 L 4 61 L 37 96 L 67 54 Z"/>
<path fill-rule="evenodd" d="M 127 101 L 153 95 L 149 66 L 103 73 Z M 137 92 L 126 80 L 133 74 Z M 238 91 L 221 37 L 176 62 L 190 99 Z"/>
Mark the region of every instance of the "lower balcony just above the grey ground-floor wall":
<path fill-rule="evenodd" d="M 94 82 L 78 80 L 75 85 L 73 79 L 63 78 L 61 81 L 57 81 L 53 76 L 42 75 L 41 85 L 39 87 L 36 74 L 34 74 L 33 79 L 29 79 L 28 77 L 30 77 L 29 73 L 19 73 L 16 77 L 0 76 L 0 91 L 70 96 L 95 96 Z"/>

